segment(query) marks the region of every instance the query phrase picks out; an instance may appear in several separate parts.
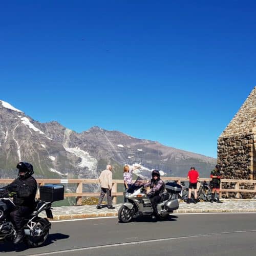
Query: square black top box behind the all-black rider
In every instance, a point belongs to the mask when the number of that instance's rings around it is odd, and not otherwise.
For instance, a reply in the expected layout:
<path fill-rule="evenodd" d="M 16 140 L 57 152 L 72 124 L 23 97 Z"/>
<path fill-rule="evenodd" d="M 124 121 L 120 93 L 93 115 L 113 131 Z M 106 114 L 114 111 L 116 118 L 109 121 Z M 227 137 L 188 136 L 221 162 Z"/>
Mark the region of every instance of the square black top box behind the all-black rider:
<path fill-rule="evenodd" d="M 39 187 L 40 200 L 46 202 L 55 202 L 64 199 L 64 185 L 45 184 Z"/>

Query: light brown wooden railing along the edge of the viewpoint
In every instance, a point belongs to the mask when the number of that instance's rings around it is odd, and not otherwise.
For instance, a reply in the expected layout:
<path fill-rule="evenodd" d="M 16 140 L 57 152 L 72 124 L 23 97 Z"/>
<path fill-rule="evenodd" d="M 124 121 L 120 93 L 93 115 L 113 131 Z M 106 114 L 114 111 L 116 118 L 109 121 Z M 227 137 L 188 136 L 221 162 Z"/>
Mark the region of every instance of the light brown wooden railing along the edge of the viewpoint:
<path fill-rule="evenodd" d="M 180 180 L 180 181 L 188 181 L 187 178 L 182 177 L 161 177 L 164 181 L 174 181 L 174 180 Z M 210 178 L 200 178 L 200 181 L 210 181 Z M 13 181 L 13 179 L 0 179 L 0 184 L 9 184 Z M 100 195 L 99 192 L 86 192 L 84 193 L 82 191 L 83 184 L 99 184 L 98 179 L 36 179 L 38 183 L 38 187 L 47 183 L 53 183 L 53 184 L 76 184 L 76 193 L 65 193 L 65 197 L 76 197 L 76 204 L 81 205 L 82 204 L 82 197 L 98 197 Z M 256 193 L 256 180 L 229 180 L 229 179 L 221 179 L 221 185 L 223 182 L 228 183 L 234 183 L 234 188 L 222 188 L 220 190 L 221 193 L 236 193 L 236 198 L 240 198 L 240 193 Z M 251 183 L 254 184 L 254 189 L 241 189 L 240 184 L 241 183 Z M 123 196 L 123 192 L 117 191 L 117 184 L 123 184 L 123 180 L 113 180 L 113 186 L 112 186 L 112 196 L 114 197 L 113 203 L 116 203 L 117 196 Z M 1 187 L 1 185 L 0 185 Z M 222 187 L 222 186 L 221 186 Z M 221 195 L 220 195 L 221 196 Z M 37 198 L 39 198 L 39 189 L 37 190 Z"/>

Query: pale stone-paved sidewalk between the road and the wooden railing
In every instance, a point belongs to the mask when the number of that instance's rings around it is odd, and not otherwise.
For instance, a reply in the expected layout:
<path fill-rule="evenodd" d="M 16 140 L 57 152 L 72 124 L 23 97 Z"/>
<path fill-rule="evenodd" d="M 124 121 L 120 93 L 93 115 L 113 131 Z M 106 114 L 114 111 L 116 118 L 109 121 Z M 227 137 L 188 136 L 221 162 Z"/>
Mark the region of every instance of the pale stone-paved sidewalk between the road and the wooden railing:
<path fill-rule="evenodd" d="M 174 214 L 201 213 L 201 212 L 256 212 L 256 200 L 223 200 L 223 203 L 198 202 L 197 204 L 187 204 L 183 201 L 179 203 L 179 209 Z M 117 216 L 118 209 L 122 204 L 113 205 L 115 209 L 96 209 L 96 205 L 81 206 L 60 206 L 53 207 L 53 220 L 69 220 L 95 217 Z M 40 214 L 46 217 L 45 213 Z"/>

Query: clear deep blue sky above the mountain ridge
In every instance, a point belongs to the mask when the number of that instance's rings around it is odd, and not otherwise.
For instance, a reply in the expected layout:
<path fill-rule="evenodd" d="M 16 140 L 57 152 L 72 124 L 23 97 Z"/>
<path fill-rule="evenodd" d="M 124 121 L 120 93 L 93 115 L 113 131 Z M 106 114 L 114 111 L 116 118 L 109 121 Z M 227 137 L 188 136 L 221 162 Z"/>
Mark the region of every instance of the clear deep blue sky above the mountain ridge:
<path fill-rule="evenodd" d="M 255 1 L 5 1 L 0 99 L 217 157 L 256 85 Z"/>

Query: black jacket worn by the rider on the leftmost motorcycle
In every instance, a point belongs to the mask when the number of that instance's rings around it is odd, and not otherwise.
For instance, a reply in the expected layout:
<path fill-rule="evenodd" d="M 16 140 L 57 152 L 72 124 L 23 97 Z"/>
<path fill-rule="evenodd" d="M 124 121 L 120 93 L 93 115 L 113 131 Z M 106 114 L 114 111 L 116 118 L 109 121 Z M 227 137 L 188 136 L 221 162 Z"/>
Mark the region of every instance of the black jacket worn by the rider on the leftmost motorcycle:
<path fill-rule="evenodd" d="M 31 209 L 35 208 L 37 183 L 32 176 L 28 178 L 18 177 L 4 188 L 11 192 L 16 192 L 13 196 L 13 203 L 16 207 L 27 206 Z"/>

